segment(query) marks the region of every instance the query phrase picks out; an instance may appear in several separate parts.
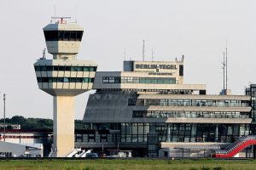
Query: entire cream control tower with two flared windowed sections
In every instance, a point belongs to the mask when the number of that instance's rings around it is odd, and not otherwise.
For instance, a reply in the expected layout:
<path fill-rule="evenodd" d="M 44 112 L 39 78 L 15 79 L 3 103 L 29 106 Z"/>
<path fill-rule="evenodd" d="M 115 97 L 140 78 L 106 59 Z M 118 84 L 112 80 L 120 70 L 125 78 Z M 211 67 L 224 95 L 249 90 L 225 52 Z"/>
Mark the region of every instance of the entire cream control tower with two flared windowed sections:
<path fill-rule="evenodd" d="M 65 157 L 74 150 L 74 98 L 92 88 L 97 66 L 77 59 L 84 29 L 67 19 L 70 18 L 52 18 L 44 27 L 47 50 L 53 59 L 46 59 L 44 51 L 34 64 L 38 87 L 53 96 L 53 150 L 57 157 Z"/>

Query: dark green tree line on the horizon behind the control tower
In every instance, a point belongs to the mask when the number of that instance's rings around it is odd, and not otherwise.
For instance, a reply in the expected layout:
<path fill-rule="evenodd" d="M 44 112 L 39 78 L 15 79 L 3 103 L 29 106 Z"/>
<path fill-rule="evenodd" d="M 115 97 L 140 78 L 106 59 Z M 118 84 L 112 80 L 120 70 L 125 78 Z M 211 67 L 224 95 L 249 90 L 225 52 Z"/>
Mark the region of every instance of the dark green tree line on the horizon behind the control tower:
<path fill-rule="evenodd" d="M 0 123 L 3 124 L 3 119 L 0 119 Z M 7 129 L 12 129 L 12 127 L 9 126 L 11 124 L 19 124 L 21 129 L 53 129 L 52 119 L 13 116 L 11 118 L 5 118 L 5 123 L 8 125 Z M 75 120 L 75 128 L 84 129 L 84 123 L 82 122 L 82 120 Z"/>

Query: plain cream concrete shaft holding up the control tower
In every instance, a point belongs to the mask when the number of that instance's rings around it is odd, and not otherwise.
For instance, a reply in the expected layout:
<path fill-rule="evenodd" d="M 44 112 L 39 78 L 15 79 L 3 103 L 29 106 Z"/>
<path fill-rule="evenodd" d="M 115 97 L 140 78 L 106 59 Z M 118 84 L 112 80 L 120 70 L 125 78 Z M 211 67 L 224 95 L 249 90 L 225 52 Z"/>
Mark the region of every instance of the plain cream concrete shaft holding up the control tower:
<path fill-rule="evenodd" d="M 74 149 L 74 96 L 54 96 L 55 156 L 67 156 Z"/>

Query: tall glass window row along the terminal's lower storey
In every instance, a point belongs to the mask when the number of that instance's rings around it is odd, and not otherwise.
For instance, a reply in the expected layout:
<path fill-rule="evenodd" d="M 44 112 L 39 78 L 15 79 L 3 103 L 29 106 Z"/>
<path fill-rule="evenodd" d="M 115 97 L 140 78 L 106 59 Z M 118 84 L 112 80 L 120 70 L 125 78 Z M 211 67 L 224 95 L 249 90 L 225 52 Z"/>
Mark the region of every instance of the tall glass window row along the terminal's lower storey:
<path fill-rule="evenodd" d="M 248 135 L 247 124 L 121 123 L 121 142 L 145 142 L 157 132 L 160 142 L 234 142 Z"/>

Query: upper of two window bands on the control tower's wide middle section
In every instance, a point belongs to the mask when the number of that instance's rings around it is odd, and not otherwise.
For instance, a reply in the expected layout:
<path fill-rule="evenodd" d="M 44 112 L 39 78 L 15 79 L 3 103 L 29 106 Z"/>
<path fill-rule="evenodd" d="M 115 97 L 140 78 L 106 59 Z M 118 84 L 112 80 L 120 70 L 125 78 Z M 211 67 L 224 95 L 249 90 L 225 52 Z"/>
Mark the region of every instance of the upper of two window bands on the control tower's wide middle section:
<path fill-rule="evenodd" d="M 96 71 L 96 66 L 35 65 L 35 71 Z"/>

